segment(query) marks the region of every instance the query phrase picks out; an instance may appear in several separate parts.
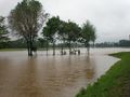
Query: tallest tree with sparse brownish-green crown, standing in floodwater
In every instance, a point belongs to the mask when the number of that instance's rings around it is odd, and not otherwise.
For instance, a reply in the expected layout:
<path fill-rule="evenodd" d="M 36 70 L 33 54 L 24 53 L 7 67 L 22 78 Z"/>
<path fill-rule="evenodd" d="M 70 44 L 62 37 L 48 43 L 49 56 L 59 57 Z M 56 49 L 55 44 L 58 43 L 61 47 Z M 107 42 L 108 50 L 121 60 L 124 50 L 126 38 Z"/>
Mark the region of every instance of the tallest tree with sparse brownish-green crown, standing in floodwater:
<path fill-rule="evenodd" d="M 48 14 L 36 0 L 23 0 L 9 15 L 9 25 L 13 33 L 26 40 L 28 56 L 32 56 L 34 42 Z"/>

